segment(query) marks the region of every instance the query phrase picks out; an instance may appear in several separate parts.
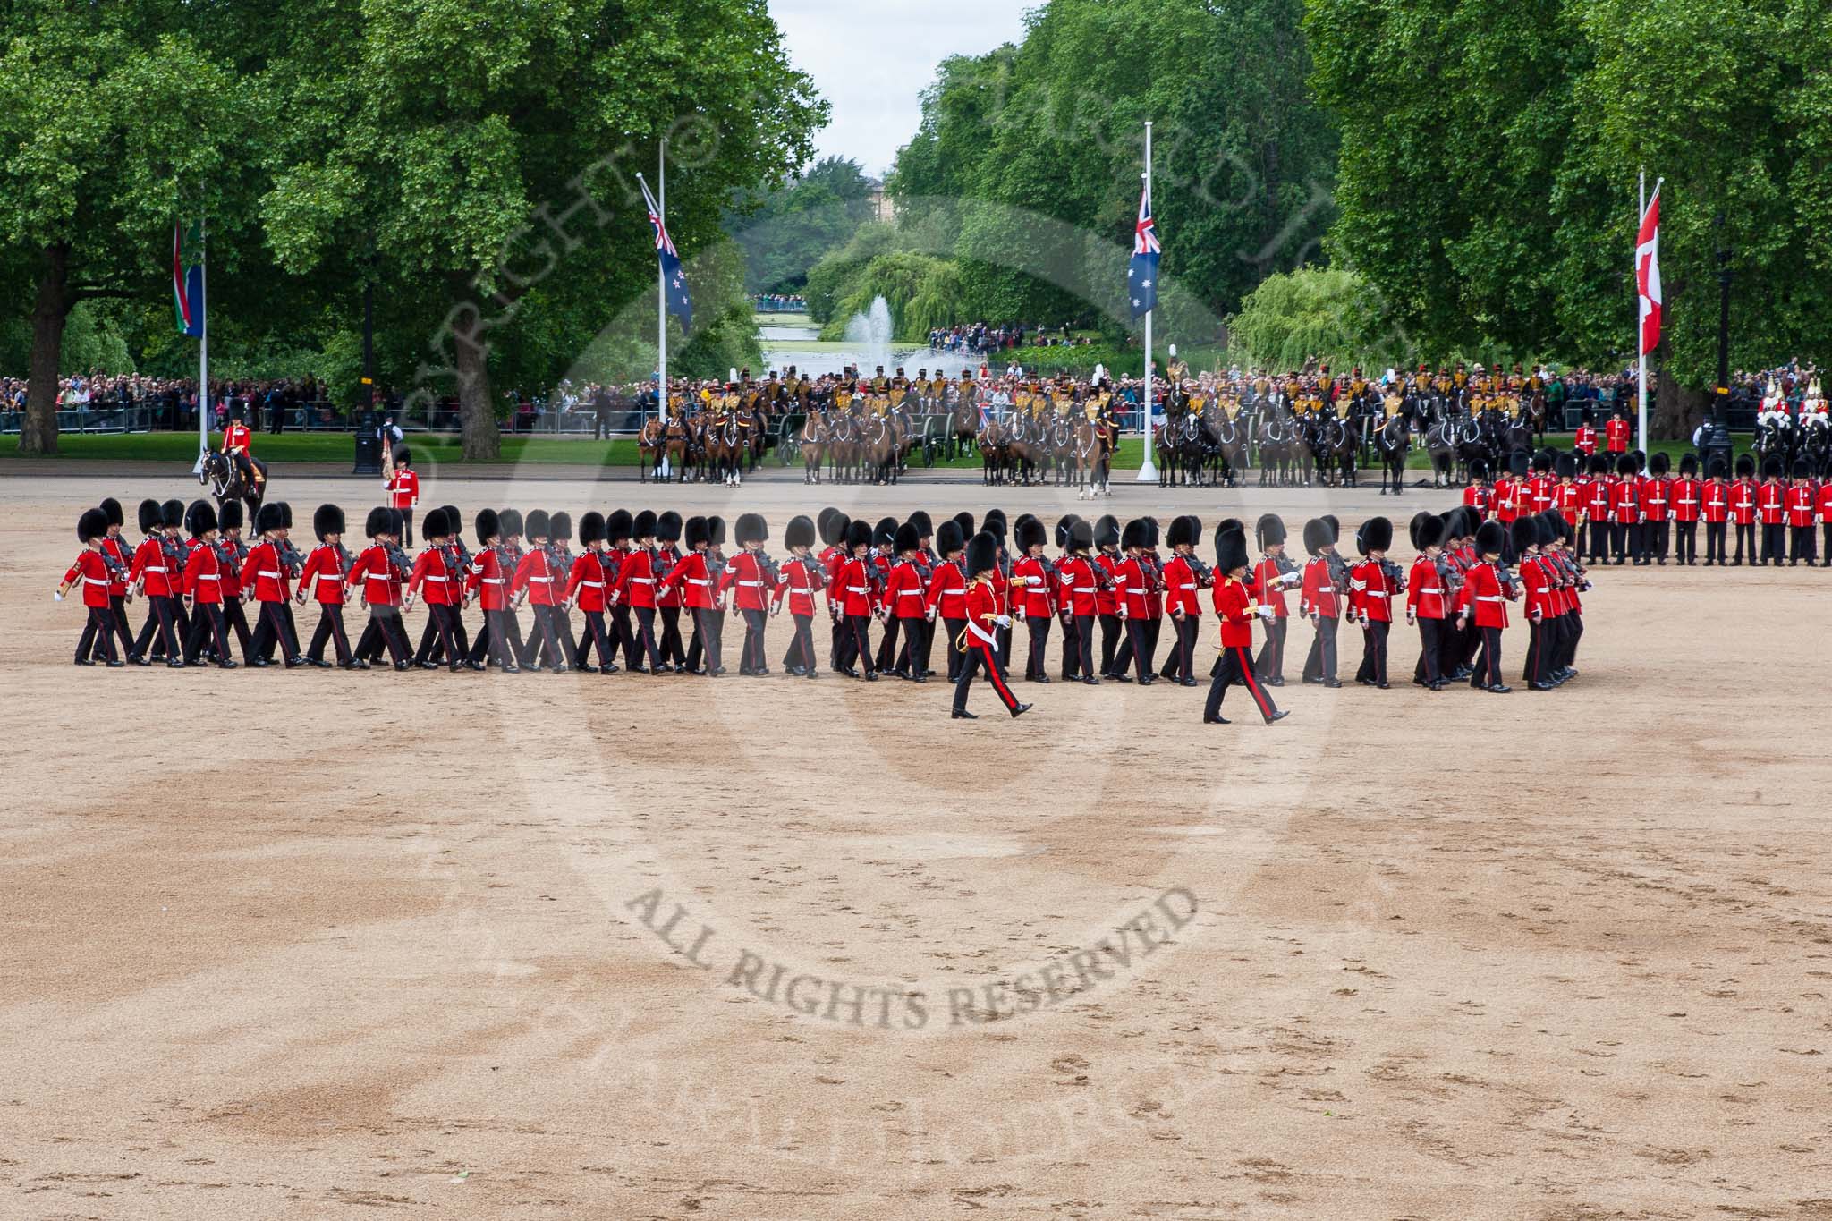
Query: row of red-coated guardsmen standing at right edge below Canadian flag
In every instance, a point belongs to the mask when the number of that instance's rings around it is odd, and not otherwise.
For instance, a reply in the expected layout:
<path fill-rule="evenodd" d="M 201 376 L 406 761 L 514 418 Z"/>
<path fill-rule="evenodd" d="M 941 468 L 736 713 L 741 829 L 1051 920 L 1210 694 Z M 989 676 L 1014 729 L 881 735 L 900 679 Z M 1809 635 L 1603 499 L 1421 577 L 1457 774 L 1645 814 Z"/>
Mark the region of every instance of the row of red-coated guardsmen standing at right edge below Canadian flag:
<path fill-rule="evenodd" d="M 1517 450 L 1493 481 L 1477 465 L 1464 503 L 1510 525 L 1515 518 L 1555 511 L 1577 529 L 1576 551 L 1590 564 L 1832 566 L 1832 480 L 1812 478 L 1805 459 L 1784 470 L 1768 456 L 1757 478 L 1751 454 L 1731 467 L 1713 458 L 1698 478 L 1698 456 L 1684 454 L 1678 474 L 1665 454 L 1641 450 L 1583 454 Z M 1735 553 L 1729 540 L 1735 533 Z M 1823 540 L 1823 556 L 1821 556 Z"/>

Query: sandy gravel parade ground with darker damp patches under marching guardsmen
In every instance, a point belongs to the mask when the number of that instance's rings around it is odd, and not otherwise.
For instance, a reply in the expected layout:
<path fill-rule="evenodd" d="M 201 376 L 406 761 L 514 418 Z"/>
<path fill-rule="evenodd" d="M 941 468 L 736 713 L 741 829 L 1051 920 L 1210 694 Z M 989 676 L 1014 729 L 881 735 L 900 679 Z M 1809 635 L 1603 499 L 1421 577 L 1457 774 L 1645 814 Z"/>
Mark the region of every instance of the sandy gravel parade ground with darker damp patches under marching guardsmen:
<path fill-rule="evenodd" d="M 300 525 L 379 494 L 277 480 Z M 1092 516 L 791 480 L 423 502 Z M 4 1217 L 1832 1217 L 1832 573 L 1596 571 L 1554 694 L 960 723 L 835 675 L 77 670 L 104 494 L 194 483 L 0 474 Z M 1451 502 L 1096 511 L 1389 513 L 1409 560 Z"/>

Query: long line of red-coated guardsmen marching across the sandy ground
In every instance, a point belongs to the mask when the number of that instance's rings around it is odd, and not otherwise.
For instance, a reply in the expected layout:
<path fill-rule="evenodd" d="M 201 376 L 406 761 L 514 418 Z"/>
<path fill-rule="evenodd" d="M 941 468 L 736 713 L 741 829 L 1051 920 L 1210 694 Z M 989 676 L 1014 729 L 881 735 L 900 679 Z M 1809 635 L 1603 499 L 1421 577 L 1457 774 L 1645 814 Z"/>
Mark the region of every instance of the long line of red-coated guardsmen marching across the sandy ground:
<path fill-rule="evenodd" d="M 1200 621 L 1213 613 L 1218 637 L 1211 643 L 1205 719 L 1220 719 L 1222 697 L 1238 683 L 1273 721 L 1284 716 L 1271 690 L 1286 683 L 1293 611 L 1314 626 L 1304 683 L 1343 685 L 1337 633 L 1348 622 L 1363 637 L 1356 681 L 1390 686 L 1387 637 L 1403 611 L 1420 632 L 1416 685 L 1442 690 L 1469 679 L 1471 686 L 1506 692 L 1506 604 L 1522 599 L 1530 624 L 1524 681 L 1550 690 L 1574 677 L 1583 635 L 1579 595 L 1588 588 L 1574 524 L 1557 509 L 1515 514 L 1506 527 L 1484 516 L 1478 505 L 1416 514 L 1411 536 L 1418 558 L 1405 571 L 1389 558 L 1387 518 L 1358 531 L 1358 560 L 1337 551 L 1336 518 L 1312 518 L 1303 531 L 1303 566 L 1286 555 L 1277 514 L 1253 527 L 1259 560 L 1249 560 L 1246 527 L 1229 518 L 1215 529 L 1211 567 L 1198 555 L 1204 529 L 1194 516 L 1172 520 L 1160 540 L 1149 516 L 1121 525 L 1114 516 L 1086 522 L 1068 514 L 1052 535 L 1026 513 L 1008 544 L 998 509 L 978 524 L 958 513 L 940 525 L 921 511 L 903 522 L 867 522 L 824 509 L 819 518 L 793 518 L 784 536 L 788 555 L 775 558 L 766 551 L 769 527 L 755 513 L 736 518 L 727 551 L 725 524 L 716 516 L 584 513 L 575 533 L 566 513 L 537 509 L 524 518 L 515 509 L 484 509 L 473 518 L 471 551 L 458 509 L 445 505 L 425 514 L 425 547 L 410 556 L 401 549 L 403 516 L 388 507 L 368 513 L 368 544 L 352 549 L 344 546 L 343 509 L 321 505 L 311 522 L 317 542 L 300 551 L 284 502 L 262 505 L 253 536 L 244 538 L 233 502 L 218 516 L 202 500 L 189 507 L 148 500 L 139 507 L 145 538 L 130 546 L 121 536 L 121 505 L 106 500 L 81 516 L 84 549 L 57 597 L 82 586 L 88 621 L 77 665 L 110 666 L 163 661 L 234 668 L 240 646 L 253 666 L 370 668 L 387 657 L 396 670 L 718 677 L 727 674 L 724 632 L 733 615 L 744 630 L 736 672 L 768 675 L 766 630 L 771 617 L 788 611 L 793 626 L 780 659 L 784 674 L 812 679 L 824 661 L 826 670 L 861 681 L 892 675 L 927 683 L 938 675 L 934 666 L 945 666 L 962 718 L 973 716 L 965 701 L 980 674 L 1013 716 L 1030 707 L 1006 683 L 1015 650 L 1022 677 L 1037 685 L 1050 683 L 1055 670 L 1059 681 L 1086 685 L 1198 686 L 1198 655 L 1207 657 Z M 137 635 L 126 615 L 136 591 L 148 604 Z M 418 602 L 427 622 L 416 644 L 405 611 Z M 473 602 L 484 615 L 474 635 L 463 617 Z M 306 604 L 319 613 L 310 643 L 293 619 L 293 608 Z M 368 611 L 354 643 L 346 604 Z M 253 610 L 253 624 L 244 606 Z M 824 648 L 815 643 L 823 611 Z M 1257 657 L 1255 622 L 1264 637 Z M 1059 663 L 1052 666 L 1057 626 Z M 945 659 L 934 657 L 936 635 Z"/>

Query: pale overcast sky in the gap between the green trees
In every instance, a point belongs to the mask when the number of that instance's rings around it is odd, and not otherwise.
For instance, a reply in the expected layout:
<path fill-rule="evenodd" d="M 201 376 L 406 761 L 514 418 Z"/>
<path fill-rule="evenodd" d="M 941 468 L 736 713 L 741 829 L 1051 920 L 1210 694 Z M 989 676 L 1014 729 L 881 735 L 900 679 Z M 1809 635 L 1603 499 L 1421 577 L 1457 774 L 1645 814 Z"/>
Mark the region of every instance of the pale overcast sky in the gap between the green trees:
<path fill-rule="evenodd" d="M 834 104 L 815 135 L 819 156 L 839 154 L 881 178 L 916 134 L 918 93 L 949 55 L 982 55 L 1017 42 L 1024 9 L 1042 0 L 769 0 L 790 59 Z"/>

